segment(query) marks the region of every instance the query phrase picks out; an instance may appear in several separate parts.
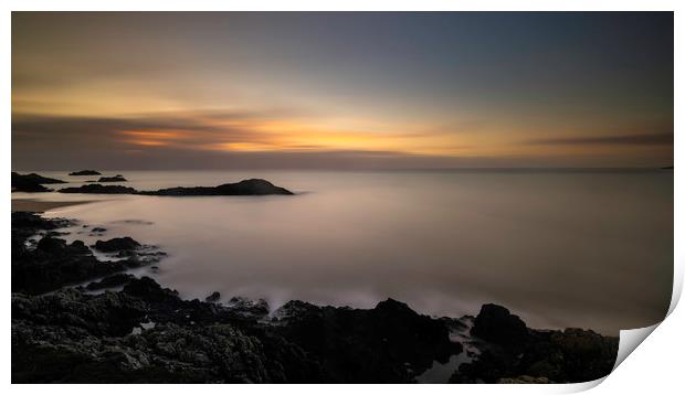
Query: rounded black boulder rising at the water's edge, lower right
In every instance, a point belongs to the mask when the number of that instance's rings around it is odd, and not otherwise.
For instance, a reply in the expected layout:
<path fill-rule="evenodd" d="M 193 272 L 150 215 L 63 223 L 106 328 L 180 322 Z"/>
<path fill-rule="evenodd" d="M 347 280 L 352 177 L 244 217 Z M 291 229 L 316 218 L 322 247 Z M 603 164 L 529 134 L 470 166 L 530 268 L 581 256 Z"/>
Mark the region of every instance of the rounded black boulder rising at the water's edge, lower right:
<path fill-rule="evenodd" d="M 496 344 L 519 346 L 527 341 L 528 328 L 518 316 L 512 314 L 506 308 L 483 305 L 471 333 Z"/>

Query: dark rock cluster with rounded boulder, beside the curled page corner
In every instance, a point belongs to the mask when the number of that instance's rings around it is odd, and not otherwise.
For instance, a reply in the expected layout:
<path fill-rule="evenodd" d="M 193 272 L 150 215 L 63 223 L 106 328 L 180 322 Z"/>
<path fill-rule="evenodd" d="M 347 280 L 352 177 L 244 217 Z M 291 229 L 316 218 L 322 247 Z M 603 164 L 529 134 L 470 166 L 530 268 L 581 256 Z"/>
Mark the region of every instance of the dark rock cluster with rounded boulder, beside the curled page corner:
<path fill-rule="evenodd" d="M 618 338 L 590 330 L 529 329 L 495 305 L 483 306 L 471 332 L 487 342 L 476 361 L 452 375 L 452 383 L 587 382 L 611 373 L 619 350 Z"/>

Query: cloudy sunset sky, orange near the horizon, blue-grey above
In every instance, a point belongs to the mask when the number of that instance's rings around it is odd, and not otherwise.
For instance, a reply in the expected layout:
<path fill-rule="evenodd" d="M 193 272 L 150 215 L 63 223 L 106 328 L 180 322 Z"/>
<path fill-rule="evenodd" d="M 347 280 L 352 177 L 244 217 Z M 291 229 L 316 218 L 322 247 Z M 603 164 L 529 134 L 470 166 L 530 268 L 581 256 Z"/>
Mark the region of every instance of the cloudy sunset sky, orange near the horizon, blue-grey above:
<path fill-rule="evenodd" d="M 12 168 L 673 164 L 671 12 L 12 12 Z"/>

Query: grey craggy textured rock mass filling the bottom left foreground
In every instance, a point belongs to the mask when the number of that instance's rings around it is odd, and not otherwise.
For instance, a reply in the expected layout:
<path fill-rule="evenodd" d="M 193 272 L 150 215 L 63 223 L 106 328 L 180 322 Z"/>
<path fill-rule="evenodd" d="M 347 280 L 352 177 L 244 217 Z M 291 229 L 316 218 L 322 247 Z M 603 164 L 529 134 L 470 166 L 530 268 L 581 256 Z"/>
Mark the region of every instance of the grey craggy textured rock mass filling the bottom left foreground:
<path fill-rule="evenodd" d="M 127 292 L 13 295 L 12 383 L 322 382 L 297 345 L 228 321 L 128 334 L 150 309 Z"/>

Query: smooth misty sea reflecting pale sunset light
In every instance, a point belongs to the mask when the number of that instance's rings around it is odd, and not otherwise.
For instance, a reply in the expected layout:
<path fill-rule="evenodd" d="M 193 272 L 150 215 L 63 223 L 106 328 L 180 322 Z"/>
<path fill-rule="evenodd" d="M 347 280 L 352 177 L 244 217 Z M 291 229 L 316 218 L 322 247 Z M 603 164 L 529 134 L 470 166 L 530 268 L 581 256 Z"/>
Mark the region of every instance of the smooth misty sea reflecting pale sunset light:
<path fill-rule="evenodd" d="M 64 180 L 65 172 L 41 174 Z M 169 257 L 147 273 L 189 298 L 221 291 L 431 314 L 497 302 L 531 327 L 619 329 L 662 319 L 673 276 L 672 172 L 144 172 L 137 189 L 264 178 L 295 196 L 94 196 L 49 212 Z M 126 221 L 139 220 L 139 221 Z M 91 238 L 84 234 L 71 237 Z"/>

